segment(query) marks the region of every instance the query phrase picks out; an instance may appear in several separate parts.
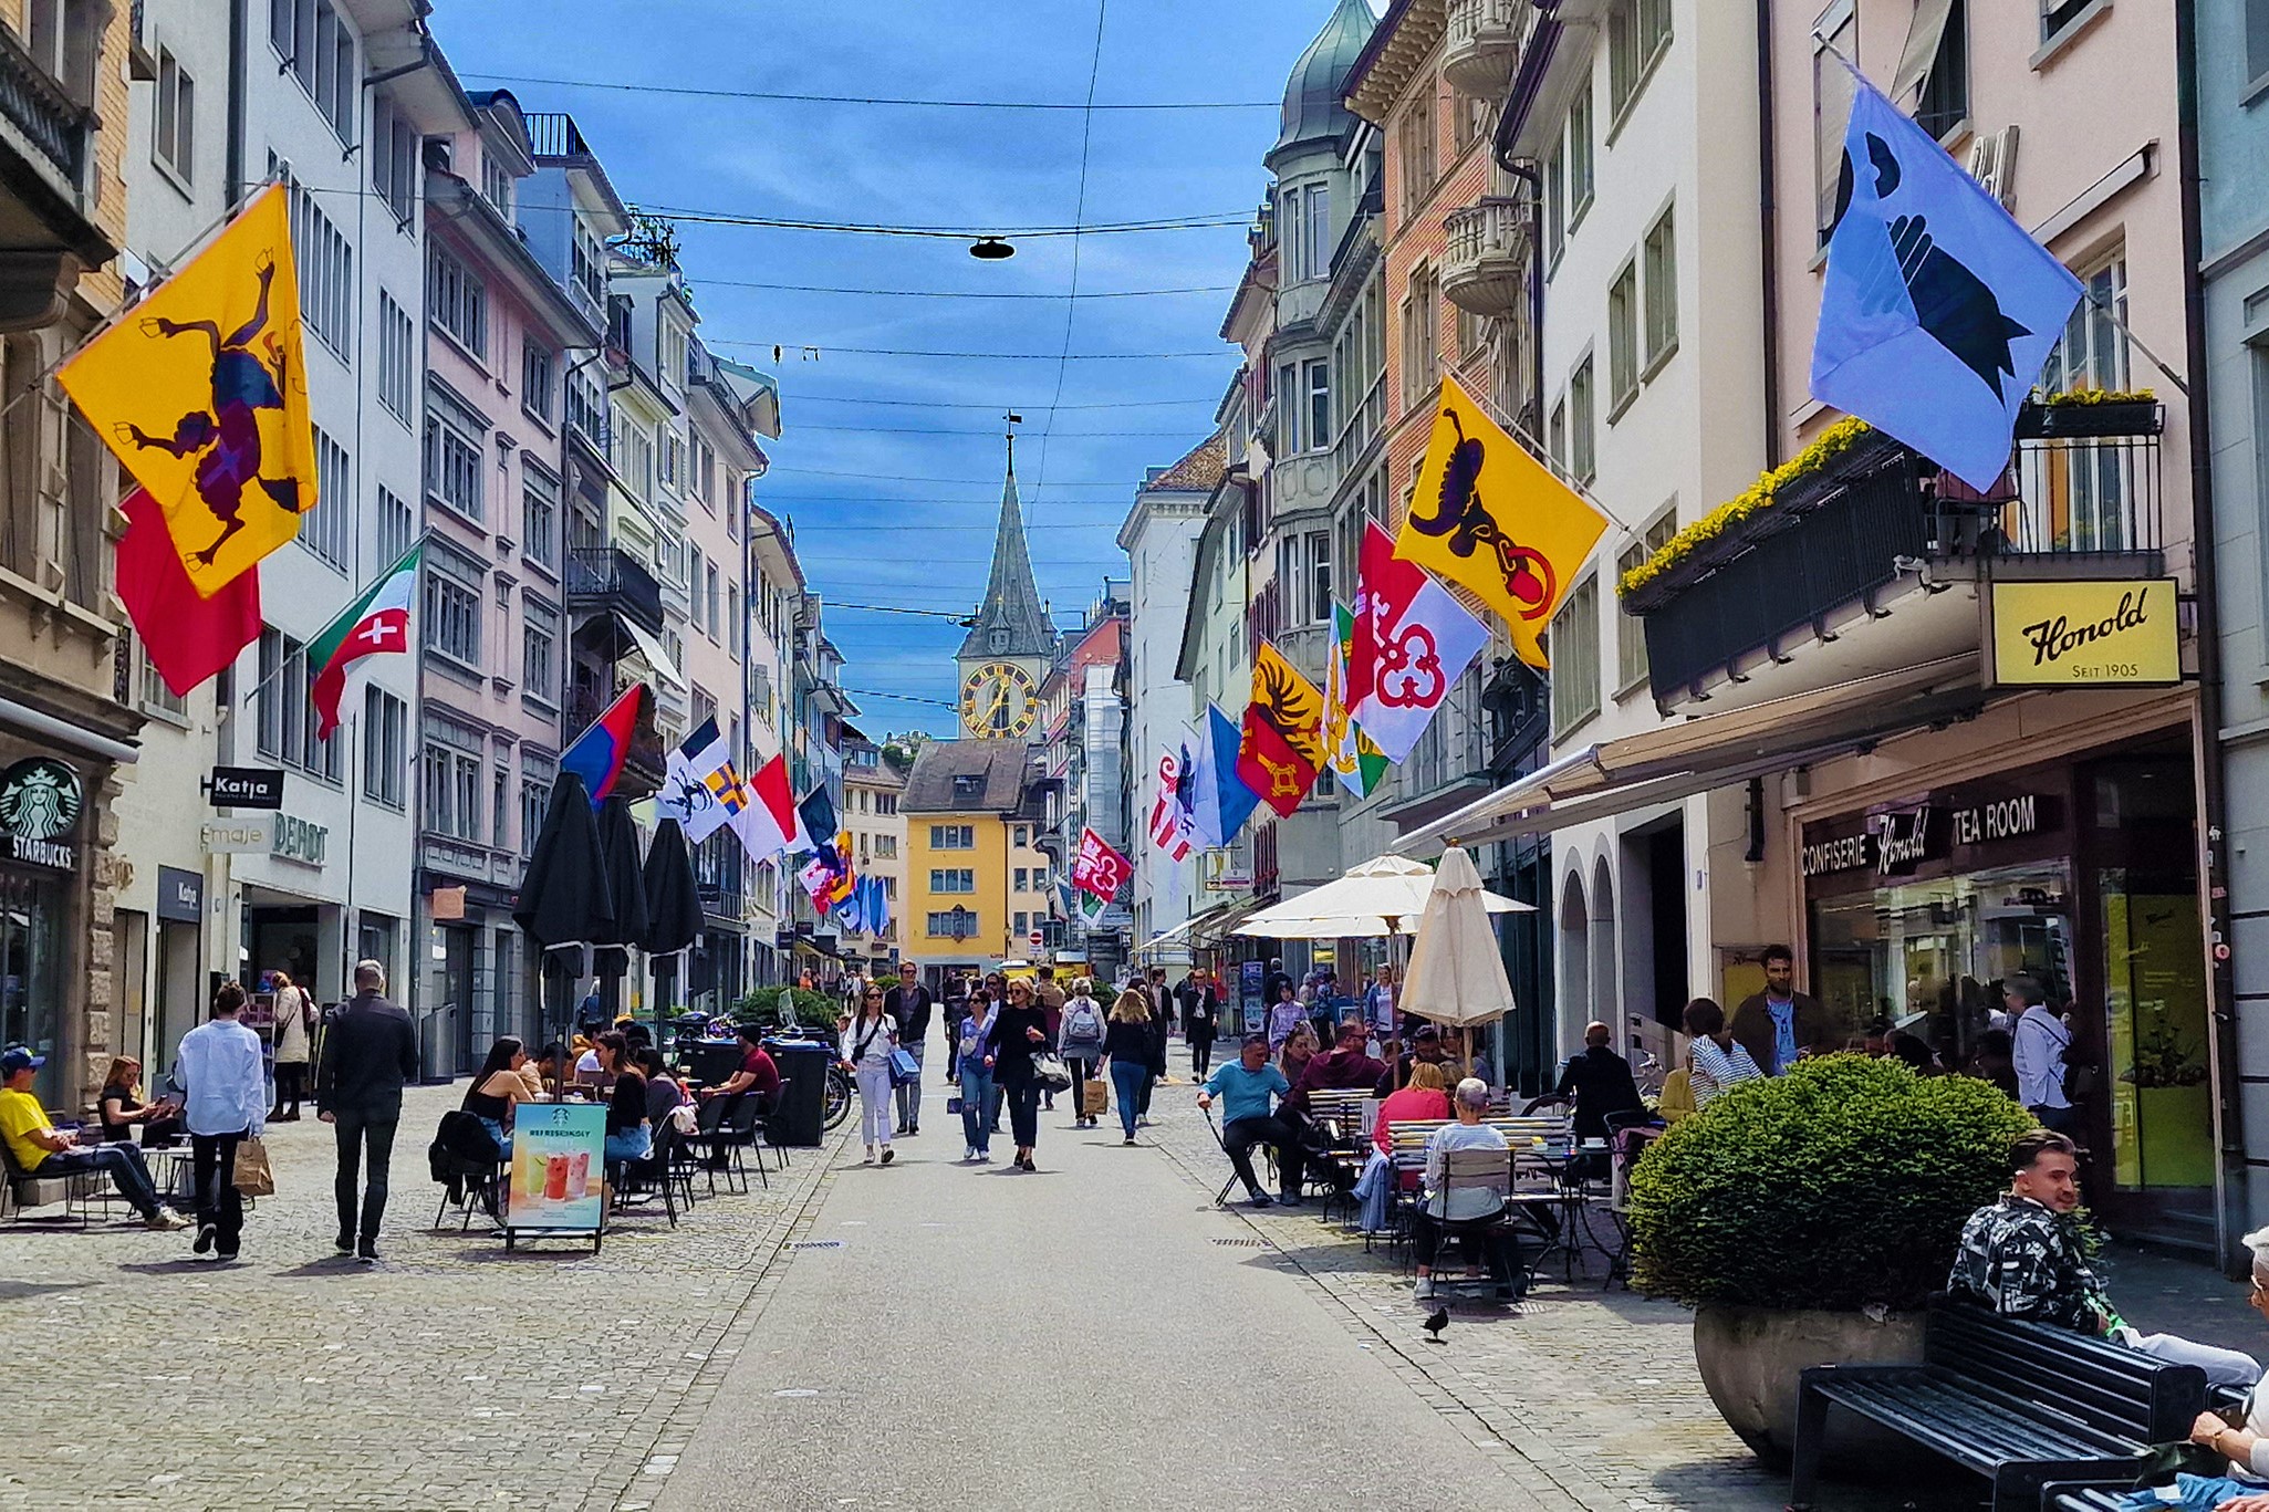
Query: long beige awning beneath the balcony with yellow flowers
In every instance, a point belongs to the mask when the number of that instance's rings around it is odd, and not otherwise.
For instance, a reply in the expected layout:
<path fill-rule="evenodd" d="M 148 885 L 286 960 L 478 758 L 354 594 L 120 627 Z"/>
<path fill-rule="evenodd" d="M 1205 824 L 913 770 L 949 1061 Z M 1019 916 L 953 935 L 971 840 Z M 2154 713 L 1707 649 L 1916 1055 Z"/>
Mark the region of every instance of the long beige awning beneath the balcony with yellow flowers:
<path fill-rule="evenodd" d="M 1486 846 L 1677 802 L 1715 787 L 1847 755 L 1890 734 L 1972 719 L 1985 705 L 1974 653 L 1901 666 L 1747 710 L 1586 746 L 1500 787 L 1395 850 Z"/>

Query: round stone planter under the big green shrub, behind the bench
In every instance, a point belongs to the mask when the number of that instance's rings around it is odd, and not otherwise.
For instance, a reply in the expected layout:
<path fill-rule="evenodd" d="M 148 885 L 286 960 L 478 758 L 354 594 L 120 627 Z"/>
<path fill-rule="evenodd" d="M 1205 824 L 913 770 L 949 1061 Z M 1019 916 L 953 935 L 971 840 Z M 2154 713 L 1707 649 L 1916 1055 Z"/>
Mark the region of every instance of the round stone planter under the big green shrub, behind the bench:
<path fill-rule="evenodd" d="M 1768 1464 L 1786 1464 L 1797 1442 L 1797 1385 L 1806 1365 L 1913 1365 L 1922 1360 L 1922 1315 L 1695 1308 L 1695 1365 L 1727 1428 Z M 1910 1473 L 1913 1444 L 1849 1412 L 1829 1417 L 1827 1464 L 1852 1473 Z"/>

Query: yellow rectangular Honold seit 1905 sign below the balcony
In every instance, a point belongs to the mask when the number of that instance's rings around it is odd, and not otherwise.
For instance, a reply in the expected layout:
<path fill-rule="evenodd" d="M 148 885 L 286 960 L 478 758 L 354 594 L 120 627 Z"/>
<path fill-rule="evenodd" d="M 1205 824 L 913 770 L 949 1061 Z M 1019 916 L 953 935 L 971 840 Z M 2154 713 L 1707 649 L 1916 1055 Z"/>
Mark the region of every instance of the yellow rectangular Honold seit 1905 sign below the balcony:
<path fill-rule="evenodd" d="M 2001 687 L 2151 687 L 2183 680 L 2174 578 L 1997 580 L 1992 680 Z"/>

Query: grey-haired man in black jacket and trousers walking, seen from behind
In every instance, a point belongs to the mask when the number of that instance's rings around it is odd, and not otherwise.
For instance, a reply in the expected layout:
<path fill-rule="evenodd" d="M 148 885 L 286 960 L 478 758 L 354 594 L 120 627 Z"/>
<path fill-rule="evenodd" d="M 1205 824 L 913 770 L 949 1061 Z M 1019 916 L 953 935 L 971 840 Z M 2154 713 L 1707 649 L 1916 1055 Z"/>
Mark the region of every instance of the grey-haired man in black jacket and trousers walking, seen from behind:
<path fill-rule="evenodd" d="M 322 1036 L 315 1115 L 338 1129 L 338 1238 L 331 1242 L 338 1254 L 352 1251 L 363 1265 L 379 1258 L 379 1217 L 386 1215 L 386 1172 L 395 1158 L 395 1124 L 402 1122 L 402 1086 L 415 1079 L 417 1031 L 411 1016 L 386 1002 L 386 968 L 356 961 L 354 997 Z M 354 1179 L 365 1149 L 370 1179 L 356 1231 Z"/>

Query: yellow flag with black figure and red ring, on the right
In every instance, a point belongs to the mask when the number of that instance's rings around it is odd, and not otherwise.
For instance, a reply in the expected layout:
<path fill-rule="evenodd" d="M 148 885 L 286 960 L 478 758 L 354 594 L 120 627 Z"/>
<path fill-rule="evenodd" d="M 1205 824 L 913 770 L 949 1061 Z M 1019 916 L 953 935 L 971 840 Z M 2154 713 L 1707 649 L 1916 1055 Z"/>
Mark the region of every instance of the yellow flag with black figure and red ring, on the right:
<path fill-rule="evenodd" d="M 1511 628 L 1520 660 L 1543 669 L 1538 637 L 1604 533 L 1595 508 L 1443 376 L 1398 558 L 1470 589 Z"/>

